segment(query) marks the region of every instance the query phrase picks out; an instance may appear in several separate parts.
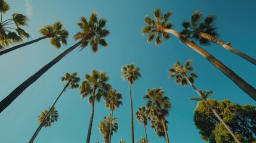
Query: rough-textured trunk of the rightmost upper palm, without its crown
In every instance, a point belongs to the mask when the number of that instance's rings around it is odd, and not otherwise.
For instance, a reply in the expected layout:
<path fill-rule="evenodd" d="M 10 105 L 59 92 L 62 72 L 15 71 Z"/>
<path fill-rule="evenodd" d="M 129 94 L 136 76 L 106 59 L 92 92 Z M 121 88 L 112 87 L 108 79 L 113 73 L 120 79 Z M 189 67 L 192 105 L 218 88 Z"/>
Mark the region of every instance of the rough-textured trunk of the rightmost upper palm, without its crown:
<path fill-rule="evenodd" d="M 255 58 L 252 58 L 249 55 L 246 55 L 245 53 L 238 51 L 237 49 L 233 48 L 232 46 L 227 45 L 221 39 L 218 39 L 218 38 L 216 38 L 212 35 L 209 35 L 207 33 L 204 33 L 204 32 L 200 32 L 199 36 L 201 36 L 202 38 L 207 39 L 208 41 L 214 42 L 217 45 L 223 46 L 223 48 L 227 49 L 227 51 L 233 52 L 234 54 L 239 55 L 240 57 L 244 58 L 245 60 L 251 62 L 254 65 L 256 65 Z"/>

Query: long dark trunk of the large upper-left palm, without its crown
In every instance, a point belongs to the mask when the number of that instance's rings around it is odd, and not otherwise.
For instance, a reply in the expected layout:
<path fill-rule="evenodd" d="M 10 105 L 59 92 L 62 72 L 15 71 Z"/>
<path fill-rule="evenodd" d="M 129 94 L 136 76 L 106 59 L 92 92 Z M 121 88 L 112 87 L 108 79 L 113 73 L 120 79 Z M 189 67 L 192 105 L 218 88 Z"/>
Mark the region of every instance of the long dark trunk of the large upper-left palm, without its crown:
<path fill-rule="evenodd" d="M 75 43 L 75 45 L 73 46 L 70 46 L 70 48 L 66 49 L 64 52 L 58 55 L 58 57 L 54 58 L 52 61 L 50 61 L 50 63 L 46 64 L 44 67 L 42 67 L 42 69 L 38 70 L 35 74 L 33 74 L 23 83 L 21 83 L 16 89 L 13 90 L 13 92 L 11 92 L 7 97 L 4 98 L 4 100 L 0 102 L 0 113 L 5 108 L 7 108 L 8 105 L 10 105 L 11 102 L 13 102 L 18 97 L 18 95 L 20 95 L 26 88 L 28 88 L 30 85 L 32 85 L 32 83 L 38 80 L 39 77 L 42 76 L 42 74 L 44 74 L 47 70 L 49 70 L 56 63 L 58 63 L 58 61 L 60 61 L 63 57 L 65 57 L 65 55 L 69 54 L 69 52 L 73 51 L 73 49 L 75 49 L 85 41 L 87 41 L 87 38 L 82 39 L 78 43 Z"/>

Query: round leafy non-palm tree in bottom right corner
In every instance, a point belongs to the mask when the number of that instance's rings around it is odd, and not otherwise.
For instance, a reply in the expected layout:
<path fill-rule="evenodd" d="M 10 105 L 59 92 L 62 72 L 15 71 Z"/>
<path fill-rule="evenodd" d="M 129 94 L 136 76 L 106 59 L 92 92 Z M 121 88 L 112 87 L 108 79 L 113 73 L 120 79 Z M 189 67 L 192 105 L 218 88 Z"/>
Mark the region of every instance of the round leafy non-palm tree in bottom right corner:
<path fill-rule="evenodd" d="M 242 142 L 252 142 L 256 135 L 256 108 L 254 105 L 233 104 L 229 100 L 208 100 L 209 104 L 220 114 L 224 122 L 235 132 Z M 211 142 L 235 142 L 232 136 L 227 134 L 224 126 L 220 125 L 211 109 L 199 101 L 193 116 L 196 128 L 199 129 L 201 138 Z M 221 138 L 223 140 L 221 140 Z"/>

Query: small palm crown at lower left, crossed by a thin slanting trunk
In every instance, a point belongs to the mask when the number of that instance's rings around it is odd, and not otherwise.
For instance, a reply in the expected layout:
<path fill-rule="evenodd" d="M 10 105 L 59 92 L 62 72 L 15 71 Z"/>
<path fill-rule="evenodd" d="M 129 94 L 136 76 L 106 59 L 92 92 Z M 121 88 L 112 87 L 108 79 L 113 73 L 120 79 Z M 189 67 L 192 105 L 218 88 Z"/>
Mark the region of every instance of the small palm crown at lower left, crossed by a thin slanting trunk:
<path fill-rule="evenodd" d="M 49 109 L 50 109 L 50 107 L 49 107 Z M 47 113 L 48 113 L 47 109 L 42 111 L 42 113 L 38 117 L 38 122 L 39 123 L 43 122 L 43 119 L 44 119 L 44 117 L 46 116 Z M 43 126 L 44 127 L 51 126 L 51 124 L 54 123 L 54 122 L 57 122 L 57 120 L 58 120 L 58 111 L 55 109 L 55 107 L 53 107 L 53 109 L 50 110 L 50 113 L 48 114 L 48 116 L 45 118 Z"/>

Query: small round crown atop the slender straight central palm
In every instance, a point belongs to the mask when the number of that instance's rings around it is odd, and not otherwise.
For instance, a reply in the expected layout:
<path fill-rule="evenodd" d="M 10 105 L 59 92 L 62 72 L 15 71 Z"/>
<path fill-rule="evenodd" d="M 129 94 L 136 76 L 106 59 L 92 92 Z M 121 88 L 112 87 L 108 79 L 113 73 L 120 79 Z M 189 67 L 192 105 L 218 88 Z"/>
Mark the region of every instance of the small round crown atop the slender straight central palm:
<path fill-rule="evenodd" d="M 135 67 L 134 63 L 126 64 L 121 68 L 121 71 L 123 73 L 121 74 L 122 78 L 125 80 L 128 77 L 129 84 L 133 84 L 135 80 L 138 80 L 138 77 L 141 77 L 141 74 L 139 73 L 140 68 Z"/>

